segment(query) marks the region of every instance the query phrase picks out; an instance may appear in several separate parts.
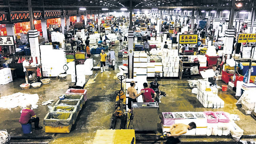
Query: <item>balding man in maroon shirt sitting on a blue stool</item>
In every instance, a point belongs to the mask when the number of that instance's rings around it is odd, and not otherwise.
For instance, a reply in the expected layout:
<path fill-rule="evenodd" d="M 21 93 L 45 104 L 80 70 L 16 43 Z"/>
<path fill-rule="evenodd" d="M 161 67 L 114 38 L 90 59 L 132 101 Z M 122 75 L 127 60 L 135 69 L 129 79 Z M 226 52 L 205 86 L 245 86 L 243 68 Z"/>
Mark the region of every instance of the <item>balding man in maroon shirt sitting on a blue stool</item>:
<path fill-rule="evenodd" d="M 43 127 L 39 126 L 39 117 L 35 116 L 35 113 L 33 110 L 31 110 L 31 104 L 27 104 L 26 109 L 22 110 L 22 114 L 19 118 L 19 123 L 22 125 L 28 124 L 28 123 L 34 123 L 35 130 L 42 129 Z"/>

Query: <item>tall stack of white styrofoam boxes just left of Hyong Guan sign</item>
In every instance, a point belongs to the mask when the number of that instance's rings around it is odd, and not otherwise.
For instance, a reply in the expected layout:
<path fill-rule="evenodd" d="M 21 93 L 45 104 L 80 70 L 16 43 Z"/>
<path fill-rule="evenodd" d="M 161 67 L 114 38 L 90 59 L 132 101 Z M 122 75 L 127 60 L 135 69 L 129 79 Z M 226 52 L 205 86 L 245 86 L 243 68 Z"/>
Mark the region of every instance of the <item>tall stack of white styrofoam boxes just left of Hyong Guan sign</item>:
<path fill-rule="evenodd" d="M 162 49 L 163 76 L 178 77 L 180 67 L 180 57 L 177 49 Z"/>

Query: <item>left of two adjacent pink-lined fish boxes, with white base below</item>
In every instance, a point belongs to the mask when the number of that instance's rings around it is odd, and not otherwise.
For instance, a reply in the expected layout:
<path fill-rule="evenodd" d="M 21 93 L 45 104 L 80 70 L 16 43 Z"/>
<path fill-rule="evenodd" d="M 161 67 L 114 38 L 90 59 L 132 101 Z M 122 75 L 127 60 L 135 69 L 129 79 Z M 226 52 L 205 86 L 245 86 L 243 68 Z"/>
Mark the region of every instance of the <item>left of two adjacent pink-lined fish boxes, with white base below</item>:
<path fill-rule="evenodd" d="M 203 112 L 207 117 L 206 135 L 218 135 L 218 118 L 214 112 Z M 211 115 L 212 117 L 209 117 Z"/>

